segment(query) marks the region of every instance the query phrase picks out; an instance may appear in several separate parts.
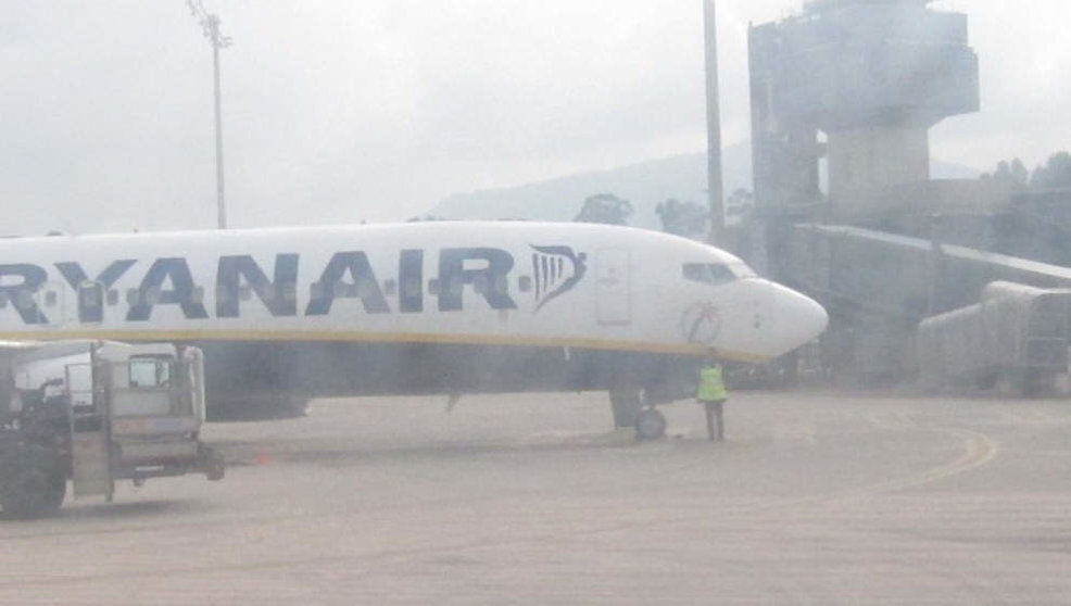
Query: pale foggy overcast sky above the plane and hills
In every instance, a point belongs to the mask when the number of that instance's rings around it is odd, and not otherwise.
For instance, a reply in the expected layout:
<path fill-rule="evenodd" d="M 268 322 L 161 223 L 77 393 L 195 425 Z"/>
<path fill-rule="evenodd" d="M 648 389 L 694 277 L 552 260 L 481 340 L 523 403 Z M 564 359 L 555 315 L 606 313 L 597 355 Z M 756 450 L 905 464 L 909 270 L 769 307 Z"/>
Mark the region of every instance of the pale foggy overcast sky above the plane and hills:
<path fill-rule="evenodd" d="M 746 28 L 720 0 L 724 142 L 748 131 Z M 205 0 L 223 51 L 230 224 L 403 219 L 458 191 L 705 148 L 700 0 Z M 1022 5 L 1030 13 L 1022 14 Z M 966 11 L 982 112 L 933 155 L 987 169 L 1071 147 L 1062 0 Z M 182 0 L 8 2 L 0 233 L 215 226 L 211 49 Z"/>

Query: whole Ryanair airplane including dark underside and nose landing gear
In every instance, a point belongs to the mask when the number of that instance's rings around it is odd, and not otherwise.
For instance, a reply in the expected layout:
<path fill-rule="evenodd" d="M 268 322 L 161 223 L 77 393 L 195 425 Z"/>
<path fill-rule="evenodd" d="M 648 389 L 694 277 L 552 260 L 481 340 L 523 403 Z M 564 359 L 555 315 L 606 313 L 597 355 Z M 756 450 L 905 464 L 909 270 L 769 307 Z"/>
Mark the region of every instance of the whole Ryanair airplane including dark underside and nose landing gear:
<path fill-rule="evenodd" d="M 730 253 L 596 224 L 61 235 L 2 239 L 0 261 L 0 339 L 193 344 L 215 417 L 291 416 L 320 396 L 607 390 L 627 427 L 658 421 L 654 404 L 708 352 L 761 363 L 828 323 Z"/>

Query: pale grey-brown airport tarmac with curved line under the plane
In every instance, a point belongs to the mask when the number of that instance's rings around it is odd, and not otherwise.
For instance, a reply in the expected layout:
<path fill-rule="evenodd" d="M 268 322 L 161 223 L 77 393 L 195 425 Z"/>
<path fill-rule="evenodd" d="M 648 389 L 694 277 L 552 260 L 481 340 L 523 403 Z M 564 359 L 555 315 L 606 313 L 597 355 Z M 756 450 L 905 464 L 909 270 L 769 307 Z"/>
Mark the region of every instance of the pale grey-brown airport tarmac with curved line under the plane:
<path fill-rule="evenodd" d="M 1067 604 L 1071 400 L 602 393 L 212 424 L 230 463 L 0 521 L 0 604 Z"/>

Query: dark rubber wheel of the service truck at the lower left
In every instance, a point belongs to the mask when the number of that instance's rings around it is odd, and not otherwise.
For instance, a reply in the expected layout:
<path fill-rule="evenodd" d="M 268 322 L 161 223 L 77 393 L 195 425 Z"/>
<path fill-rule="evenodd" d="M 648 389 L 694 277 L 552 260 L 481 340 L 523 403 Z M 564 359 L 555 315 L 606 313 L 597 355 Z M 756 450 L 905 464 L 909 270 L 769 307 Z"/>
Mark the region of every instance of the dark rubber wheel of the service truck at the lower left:
<path fill-rule="evenodd" d="M 4 516 L 25 519 L 54 514 L 63 504 L 67 479 L 49 453 L 32 447 L 12 463 L 15 468 L 0 494 Z"/>

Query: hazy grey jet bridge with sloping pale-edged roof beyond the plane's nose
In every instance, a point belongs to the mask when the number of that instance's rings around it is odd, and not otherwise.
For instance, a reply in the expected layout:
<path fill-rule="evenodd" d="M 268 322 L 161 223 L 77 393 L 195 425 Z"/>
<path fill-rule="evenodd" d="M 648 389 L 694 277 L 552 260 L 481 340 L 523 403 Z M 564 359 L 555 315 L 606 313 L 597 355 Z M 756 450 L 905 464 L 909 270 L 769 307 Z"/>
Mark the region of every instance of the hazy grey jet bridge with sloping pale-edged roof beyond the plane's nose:
<path fill-rule="evenodd" d="M 798 224 L 776 273 L 830 312 L 823 364 L 864 379 L 912 375 L 925 318 L 979 303 L 987 285 L 1071 288 L 1071 268 L 860 227 Z"/>

